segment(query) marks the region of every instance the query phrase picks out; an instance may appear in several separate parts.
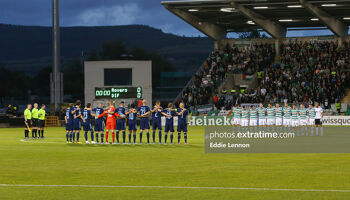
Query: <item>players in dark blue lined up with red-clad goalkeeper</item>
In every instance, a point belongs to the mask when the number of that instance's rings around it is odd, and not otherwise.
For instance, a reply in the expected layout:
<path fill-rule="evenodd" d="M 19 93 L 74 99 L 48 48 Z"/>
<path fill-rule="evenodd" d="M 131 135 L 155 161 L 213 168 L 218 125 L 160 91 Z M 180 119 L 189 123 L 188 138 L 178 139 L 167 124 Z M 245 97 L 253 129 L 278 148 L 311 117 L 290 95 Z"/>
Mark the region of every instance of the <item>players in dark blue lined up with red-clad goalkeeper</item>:
<path fill-rule="evenodd" d="M 81 102 L 77 101 L 76 105 L 70 104 L 66 110 L 65 122 L 66 122 L 66 141 L 67 143 L 80 143 L 80 131 L 81 124 L 85 131 L 85 142 L 86 144 L 109 144 L 109 133 L 112 134 L 112 144 L 119 144 L 119 132 L 122 132 L 122 143 L 123 144 L 137 144 L 136 131 L 137 121 L 140 119 L 140 132 L 139 132 L 139 143 L 142 144 L 143 132 L 146 132 L 147 144 L 150 144 L 150 119 L 152 115 L 152 143 L 156 143 L 156 130 L 158 130 L 158 142 L 159 144 L 167 144 L 168 133 L 170 132 L 170 144 L 173 144 L 174 137 L 174 117 L 178 117 L 177 126 L 177 143 L 180 143 L 181 133 L 185 144 L 187 144 L 187 117 L 189 112 L 184 108 L 184 104 L 179 105 L 180 108 L 174 109 L 171 103 L 168 104 L 168 108 L 163 109 L 160 106 L 160 102 L 157 101 L 156 105 L 152 109 L 147 106 L 147 101 L 143 100 L 143 105 L 136 107 L 132 104 L 129 110 L 126 110 L 124 102 L 120 103 L 120 106 L 115 108 L 113 102 L 109 102 L 108 108 L 104 109 L 103 104 L 100 103 L 97 108 L 91 108 L 91 104 L 88 103 L 86 107 L 80 109 Z M 162 136 L 162 122 L 161 117 L 165 116 L 165 134 L 164 142 Z M 95 117 L 95 127 L 92 128 L 91 118 Z M 106 117 L 106 123 L 103 119 Z M 129 134 L 128 141 L 126 140 L 126 124 L 128 126 Z M 106 132 L 104 133 L 106 125 Z M 91 133 L 91 141 L 88 139 L 88 132 Z M 94 137 L 94 132 L 96 133 Z M 105 134 L 105 135 L 104 135 Z M 104 141 L 105 140 L 105 141 Z"/>

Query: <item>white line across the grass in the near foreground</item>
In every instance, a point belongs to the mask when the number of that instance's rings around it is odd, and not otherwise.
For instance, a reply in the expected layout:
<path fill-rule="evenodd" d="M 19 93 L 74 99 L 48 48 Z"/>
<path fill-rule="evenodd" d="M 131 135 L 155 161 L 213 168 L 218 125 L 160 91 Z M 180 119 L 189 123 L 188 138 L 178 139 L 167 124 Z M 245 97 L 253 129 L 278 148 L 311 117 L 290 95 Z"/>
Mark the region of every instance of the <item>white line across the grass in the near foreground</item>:
<path fill-rule="evenodd" d="M 287 189 L 287 188 L 236 188 L 236 187 L 185 187 L 185 186 L 147 186 L 147 185 L 25 185 L 0 184 L 0 187 L 82 187 L 82 188 L 160 188 L 160 189 L 207 189 L 207 190 L 262 190 L 292 192 L 350 192 L 350 190 Z"/>

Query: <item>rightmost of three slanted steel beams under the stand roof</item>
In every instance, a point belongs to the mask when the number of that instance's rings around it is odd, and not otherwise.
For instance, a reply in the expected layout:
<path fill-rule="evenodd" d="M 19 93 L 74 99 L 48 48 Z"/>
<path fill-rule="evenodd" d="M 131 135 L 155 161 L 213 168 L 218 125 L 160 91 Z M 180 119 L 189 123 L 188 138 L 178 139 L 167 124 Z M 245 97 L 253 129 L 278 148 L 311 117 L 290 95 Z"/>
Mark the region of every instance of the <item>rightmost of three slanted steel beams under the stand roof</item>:
<path fill-rule="evenodd" d="M 343 22 L 305 0 L 299 1 L 309 12 L 319 18 L 320 21 L 322 21 L 334 33 L 334 35 L 341 38 L 348 35 L 348 27 Z"/>

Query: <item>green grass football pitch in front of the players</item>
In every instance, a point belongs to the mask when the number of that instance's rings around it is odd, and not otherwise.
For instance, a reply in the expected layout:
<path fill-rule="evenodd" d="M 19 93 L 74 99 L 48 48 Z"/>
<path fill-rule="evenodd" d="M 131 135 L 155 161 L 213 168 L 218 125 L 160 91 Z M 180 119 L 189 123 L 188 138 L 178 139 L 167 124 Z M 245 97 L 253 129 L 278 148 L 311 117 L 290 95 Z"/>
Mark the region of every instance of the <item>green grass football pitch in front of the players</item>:
<path fill-rule="evenodd" d="M 350 154 L 205 154 L 204 127 L 189 128 L 188 145 L 66 144 L 64 128 L 23 136 L 0 129 L 2 200 L 350 199 Z"/>

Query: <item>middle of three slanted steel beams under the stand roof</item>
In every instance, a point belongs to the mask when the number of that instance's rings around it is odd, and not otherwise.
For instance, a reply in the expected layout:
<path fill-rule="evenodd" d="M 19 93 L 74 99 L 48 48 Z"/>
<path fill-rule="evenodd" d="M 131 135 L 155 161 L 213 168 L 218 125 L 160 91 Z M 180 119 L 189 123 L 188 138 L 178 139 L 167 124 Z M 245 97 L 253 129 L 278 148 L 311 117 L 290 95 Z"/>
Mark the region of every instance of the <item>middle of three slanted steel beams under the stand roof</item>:
<path fill-rule="evenodd" d="M 267 33 L 269 33 L 275 39 L 281 39 L 286 37 L 287 30 L 280 24 L 267 19 L 266 17 L 246 8 L 235 2 L 231 2 L 231 6 L 239 10 L 244 16 L 251 19 L 255 24 L 263 28 Z"/>

